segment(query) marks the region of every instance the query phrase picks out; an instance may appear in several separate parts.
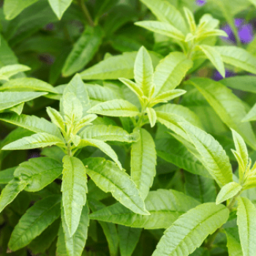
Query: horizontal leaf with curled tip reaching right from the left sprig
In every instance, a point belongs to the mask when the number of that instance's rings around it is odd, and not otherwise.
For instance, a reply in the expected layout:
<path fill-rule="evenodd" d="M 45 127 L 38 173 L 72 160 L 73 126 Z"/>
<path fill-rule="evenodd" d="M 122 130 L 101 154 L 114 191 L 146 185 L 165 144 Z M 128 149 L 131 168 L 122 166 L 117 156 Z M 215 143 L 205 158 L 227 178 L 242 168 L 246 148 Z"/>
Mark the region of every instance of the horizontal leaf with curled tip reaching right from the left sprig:
<path fill-rule="evenodd" d="M 125 129 L 104 124 L 86 127 L 83 132 L 80 132 L 79 136 L 84 140 L 93 139 L 121 142 L 132 142 L 135 140 L 135 138 L 133 138 L 132 135 L 129 135 Z"/>

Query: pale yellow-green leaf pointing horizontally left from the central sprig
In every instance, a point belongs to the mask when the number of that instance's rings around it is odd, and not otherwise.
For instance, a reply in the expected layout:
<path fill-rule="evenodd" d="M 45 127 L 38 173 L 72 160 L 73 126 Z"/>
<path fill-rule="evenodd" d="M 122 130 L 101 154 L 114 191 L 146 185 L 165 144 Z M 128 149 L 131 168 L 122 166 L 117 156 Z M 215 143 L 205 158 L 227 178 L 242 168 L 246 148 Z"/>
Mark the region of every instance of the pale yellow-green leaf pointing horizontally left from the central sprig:
<path fill-rule="evenodd" d="M 96 113 L 103 116 L 138 116 L 140 114 L 135 105 L 124 99 L 102 102 L 91 108 L 88 113 Z"/>

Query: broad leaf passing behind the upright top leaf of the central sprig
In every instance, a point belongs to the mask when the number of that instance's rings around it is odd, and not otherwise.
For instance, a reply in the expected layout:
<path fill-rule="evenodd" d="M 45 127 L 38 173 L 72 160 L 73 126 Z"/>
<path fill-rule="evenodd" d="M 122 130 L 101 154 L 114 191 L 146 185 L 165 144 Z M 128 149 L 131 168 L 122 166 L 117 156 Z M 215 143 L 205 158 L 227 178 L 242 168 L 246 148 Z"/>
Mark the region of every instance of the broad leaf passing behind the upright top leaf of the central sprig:
<path fill-rule="evenodd" d="M 156 67 L 161 56 L 157 53 L 149 53 L 153 66 Z M 100 61 L 98 64 L 89 67 L 81 72 L 83 80 L 109 80 L 118 78 L 134 78 L 134 65 L 137 52 L 123 53 L 122 55 L 111 56 Z"/>

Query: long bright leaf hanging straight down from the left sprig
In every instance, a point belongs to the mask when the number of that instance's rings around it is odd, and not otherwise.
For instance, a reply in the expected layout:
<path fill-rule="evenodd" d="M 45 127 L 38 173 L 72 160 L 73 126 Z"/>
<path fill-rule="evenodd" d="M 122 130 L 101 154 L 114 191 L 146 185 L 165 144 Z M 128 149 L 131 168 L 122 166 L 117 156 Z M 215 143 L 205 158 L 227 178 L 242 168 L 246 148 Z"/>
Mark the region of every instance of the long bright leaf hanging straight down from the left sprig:
<path fill-rule="evenodd" d="M 69 231 L 73 236 L 78 229 L 80 215 L 86 204 L 87 176 L 83 162 L 76 157 L 63 158 L 62 202 L 64 217 Z"/>

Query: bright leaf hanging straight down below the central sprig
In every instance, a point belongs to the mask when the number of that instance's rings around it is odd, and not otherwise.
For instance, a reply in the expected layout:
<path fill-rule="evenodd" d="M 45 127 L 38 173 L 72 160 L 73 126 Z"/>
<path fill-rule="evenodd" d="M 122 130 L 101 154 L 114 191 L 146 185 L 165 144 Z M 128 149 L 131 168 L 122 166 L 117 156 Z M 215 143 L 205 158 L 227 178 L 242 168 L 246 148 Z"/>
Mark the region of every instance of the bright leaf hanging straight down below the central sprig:
<path fill-rule="evenodd" d="M 145 199 L 156 175 L 157 152 L 154 140 L 146 129 L 138 128 L 135 132 L 140 134 L 140 138 L 132 143 L 131 176 Z"/>

